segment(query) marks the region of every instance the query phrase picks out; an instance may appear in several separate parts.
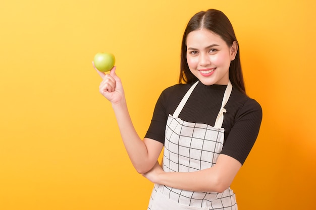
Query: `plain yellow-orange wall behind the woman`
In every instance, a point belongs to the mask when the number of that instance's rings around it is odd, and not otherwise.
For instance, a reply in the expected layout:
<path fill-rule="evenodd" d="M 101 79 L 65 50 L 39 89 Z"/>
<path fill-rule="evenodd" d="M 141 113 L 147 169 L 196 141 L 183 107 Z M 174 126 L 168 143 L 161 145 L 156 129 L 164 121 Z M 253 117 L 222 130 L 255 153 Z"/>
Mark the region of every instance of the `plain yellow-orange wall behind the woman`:
<path fill-rule="evenodd" d="M 240 43 L 257 142 L 235 178 L 239 208 L 315 209 L 314 0 L 4 0 L 0 4 L 0 209 L 146 209 L 152 184 L 98 93 L 97 52 L 115 54 L 140 136 L 178 80 L 189 18 L 222 10 Z"/>

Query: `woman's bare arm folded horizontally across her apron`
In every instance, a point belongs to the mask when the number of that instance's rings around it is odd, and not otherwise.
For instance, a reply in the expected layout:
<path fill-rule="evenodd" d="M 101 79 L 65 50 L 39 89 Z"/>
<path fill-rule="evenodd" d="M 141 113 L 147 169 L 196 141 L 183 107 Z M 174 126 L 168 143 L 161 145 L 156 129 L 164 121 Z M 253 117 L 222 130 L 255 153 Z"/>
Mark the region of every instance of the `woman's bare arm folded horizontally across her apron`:
<path fill-rule="evenodd" d="M 144 177 L 153 183 L 163 184 L 169 187 L 200 192 L 223 192 L 232 183 L 241 163 L 236 159 L 219 155 L 214 167 L 195 172 L 164 172 L 159 163 Z"/>

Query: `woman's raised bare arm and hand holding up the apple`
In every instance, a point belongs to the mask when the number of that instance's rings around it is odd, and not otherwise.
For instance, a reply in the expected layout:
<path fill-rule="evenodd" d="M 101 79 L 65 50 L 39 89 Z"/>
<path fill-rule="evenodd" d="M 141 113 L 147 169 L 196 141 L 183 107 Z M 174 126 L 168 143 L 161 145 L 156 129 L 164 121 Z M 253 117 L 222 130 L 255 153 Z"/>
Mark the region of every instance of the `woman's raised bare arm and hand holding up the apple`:
<path fill-rule="evenodd" d="M 111 69 L 110 74 L 104 74 L 96 69 L 103 79 L 99 91 L 112 103 L 123 143 L 133 166 L 138 173 L 145 173 L 154 166 L 163 144 L 149 138 L 142 141 L 137 134 L 128 112 L 121 79 L 116 75 L 115 70 L 116 66 Z"/>

